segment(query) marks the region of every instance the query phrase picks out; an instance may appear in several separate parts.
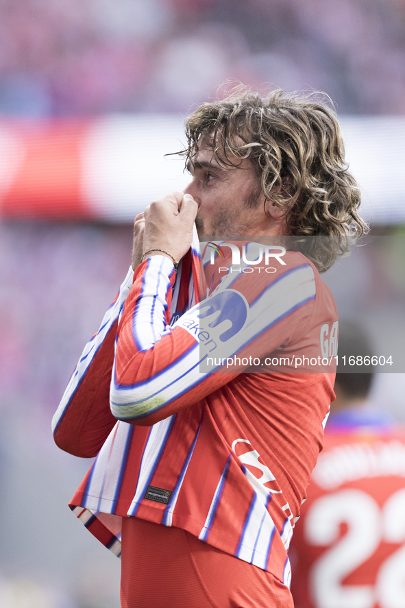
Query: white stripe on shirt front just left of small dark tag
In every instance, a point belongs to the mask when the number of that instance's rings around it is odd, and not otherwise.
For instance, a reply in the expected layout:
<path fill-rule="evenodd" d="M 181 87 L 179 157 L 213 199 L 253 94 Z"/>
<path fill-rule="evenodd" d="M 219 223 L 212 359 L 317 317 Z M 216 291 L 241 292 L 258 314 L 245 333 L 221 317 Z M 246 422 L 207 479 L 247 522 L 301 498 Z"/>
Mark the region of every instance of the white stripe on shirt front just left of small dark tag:
<path fill-rule="evenodd" d="M 160 456 L 164 445 L 169 437 L 169 433 L 173 422 L 175 420 L 175 414 L 169 416 L 164 420 L 160 420 L 151 427 L 149 437 L 143 450 L 142 462 L 140 463 L 140 470 L 138 475 L 138 484 L 136 485 L 136 492 L 134 500 L 132 500 L 130 509 L 128 509 L 127 515 L 136 515 L 138 511 L 140 501 L 145 496 L 147 487 L 150 480 L 155 472 L 156 466 L 160 461 Z"/>

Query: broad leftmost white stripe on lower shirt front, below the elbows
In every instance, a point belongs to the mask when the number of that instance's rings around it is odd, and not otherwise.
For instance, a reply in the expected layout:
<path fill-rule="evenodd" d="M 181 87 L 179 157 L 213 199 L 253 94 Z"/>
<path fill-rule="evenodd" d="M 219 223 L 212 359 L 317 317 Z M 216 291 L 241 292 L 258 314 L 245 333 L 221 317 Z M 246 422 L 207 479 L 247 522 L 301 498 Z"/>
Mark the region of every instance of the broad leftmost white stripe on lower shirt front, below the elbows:
<path fill-rule="evenodd" d="M 133 430 L 131 424 L 119 422 L 103 443 L 93 463 L 86 487 L 83 504 L 87 509 L 103 513 L 114 512 L 116 493 L 121 486 L 121 468 L 126 464 L 124 455 L 127 442 Z M 120 470 L 117 470 L 118 466 Z M 101 498 L 95 498 L 96 496 Z"/>

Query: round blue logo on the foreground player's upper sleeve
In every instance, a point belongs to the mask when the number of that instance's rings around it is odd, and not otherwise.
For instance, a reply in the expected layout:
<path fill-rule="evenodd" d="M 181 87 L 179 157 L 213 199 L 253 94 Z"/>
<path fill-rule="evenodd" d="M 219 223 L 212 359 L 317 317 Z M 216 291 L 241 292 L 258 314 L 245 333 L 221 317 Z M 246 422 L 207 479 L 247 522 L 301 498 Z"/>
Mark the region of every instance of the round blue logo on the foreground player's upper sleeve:
<path fill-rule="evenodd" d="M 221 342 L 226 342 L 232 338 L 245 325 L 247 304 L 238 291 L 233 291 L 232 289 L 221 291 L 221 293 L 208 298 L 206 302 L 201 302 L 199 306 L 203 309 L 203 311 L 197 315 L 199 319 L 210 317 L 219 311 L 219 315 L 208 324 L 208 327 L 217 327 L 223 321 L 232 322 L 232 327 L 225 330 L 219 336 Z"/>

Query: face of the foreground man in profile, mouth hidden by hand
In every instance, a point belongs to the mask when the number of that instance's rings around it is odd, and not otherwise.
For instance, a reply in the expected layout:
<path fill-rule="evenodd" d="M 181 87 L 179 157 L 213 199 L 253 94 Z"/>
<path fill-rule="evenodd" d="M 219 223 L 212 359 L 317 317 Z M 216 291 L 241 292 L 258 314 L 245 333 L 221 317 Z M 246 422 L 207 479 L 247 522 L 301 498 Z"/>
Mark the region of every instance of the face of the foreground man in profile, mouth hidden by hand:
<path fill-rule="evenodd" d="M 210 145 L 201 144 L 188 167 L 193 179 L 184 190 L 199 208 L 195 223 L 199 236 L 262 234 L 259 218 L 264 215 L 258 178 L 250 160 L 231 157 L 237 167 L 223 165 Z"/>

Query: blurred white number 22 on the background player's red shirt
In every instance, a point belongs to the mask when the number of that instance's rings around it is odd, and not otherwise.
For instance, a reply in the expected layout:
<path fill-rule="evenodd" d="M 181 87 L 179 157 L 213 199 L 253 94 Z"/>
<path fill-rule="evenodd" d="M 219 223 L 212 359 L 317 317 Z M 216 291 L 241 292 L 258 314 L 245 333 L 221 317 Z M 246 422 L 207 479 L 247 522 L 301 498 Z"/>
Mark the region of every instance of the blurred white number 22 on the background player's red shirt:
<path fill-rule="evenodd" d="M 321 496 L 308 509 L 304 536 L 309 545 L 327 548 L 310 570 L 316 608 L 405 608 L 405 489 L 382 507 L 360 489 Z M 381 543 L 395 544 L 395 550 L 381 561 L 375 583 L 345 584 Z"/>

